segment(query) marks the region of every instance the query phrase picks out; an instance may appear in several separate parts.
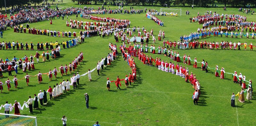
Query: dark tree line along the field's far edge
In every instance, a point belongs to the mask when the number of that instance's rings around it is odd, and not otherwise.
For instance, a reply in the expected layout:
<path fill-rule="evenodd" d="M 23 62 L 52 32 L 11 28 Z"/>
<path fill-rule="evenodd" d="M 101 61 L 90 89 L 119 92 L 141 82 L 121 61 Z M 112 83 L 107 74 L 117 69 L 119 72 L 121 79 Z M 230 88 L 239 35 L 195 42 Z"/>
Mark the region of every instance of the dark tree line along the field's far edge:
<path fill-rule="evenodd" d="M 56 0 L 57 1 L 57 0 Z M 205 7 L 212 4 L 223 4 L 222 6 L 232 6 L 232 7 L 246 7 L 256 6 L 256 0 L 70 0 L 72 2 L 77 2 L 78 4 L 87 4 L 88 2 L 93 2 L 93 4 L 123 4 L 123 5 L 162 5 L 162 6 L 185 6 L 185 5 L 194 5 Z M 5 0 L 6 7 L 13 6 L 26 6 L 26 5 L 35 5 L 42 2 L 52 2 L 52 0 Z M 215 3 L 217 2 L 217 3 Z M 220 6 L 220 5 L 219 5 Z M 4 0 L 0 0 L 0 7 L 4 7 Z"/>

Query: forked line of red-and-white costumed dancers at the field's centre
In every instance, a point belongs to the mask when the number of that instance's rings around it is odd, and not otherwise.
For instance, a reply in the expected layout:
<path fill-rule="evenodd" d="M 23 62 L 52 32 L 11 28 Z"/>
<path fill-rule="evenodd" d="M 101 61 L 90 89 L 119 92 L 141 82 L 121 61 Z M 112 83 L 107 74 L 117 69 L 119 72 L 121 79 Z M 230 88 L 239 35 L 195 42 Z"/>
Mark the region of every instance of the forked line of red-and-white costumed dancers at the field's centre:
<path fill-rule="evenodd" d="M 111 44 L 110 46 L 111 46 L 111 49 L 112 48 L 115 49 L 115 45 Z M 193 85 L 193 89 L 195 89 L 193 93 L 193 99 L 194 99 L 194 104 L 197 105 L 198 98 L 201 94 L 200 83 L 198 82 L 196 75 L 193 75 L 192 72 L 191 72 L 191 75 L 189 75 L 188 68 L 182 67 L 181 65 L 179 65 L 179 63 L 177 63 L 177 65 L 174 66 L 174 63 L 167 62 L 167 61 L 164 62 L 164 60 L 161 60 L 161 58 L 153 59 L 151 56 L 148 57 L 148 55 L 146 56 L 146 54 L 144 53 L 143 49 L 141 50 L 141 48 L 137 46 L 129 45 L 129 47 L 126 47 L 124 43 L 123 45 L 120 46 L 120 50 L 122 52 L 124 60 L 128 61 L 128 65 L 130 65 L 131 68 L 135 66 L 134 59 L 132 58 L 133 56 L 133 57 L 138 57 L 138 59 L 141 60 L 143 64 L 146 64 L 148 66 L 153 66 L 153 62 L 155 62 L 155 66 L 159 70 L 170 72 L 172 74 L 175 74 L 175 71 L 176 71 L 176 75 L 179 75 L 180 77 L 185 78 L 186 82 L 189 82 Z M 177 52 L 177 54 L 176 52 L 174 52 L 171 59 L 173 59 L 174 61 L 180 62 L 179 52 Z M 183 63 L 185 63 L 185 61 Z M 187 61 L 186 61 L 186 64 L 187 64 Z M 136 67 L 133 69 L 134 70 L 132 72 L 135 76 L 132 76 L 133 74 L 130 74 L 130 76 L 131 78 L 135 77 L 135 80 L 136 80 Z M 129 78 L 127 79 L 129 80 Z"/>

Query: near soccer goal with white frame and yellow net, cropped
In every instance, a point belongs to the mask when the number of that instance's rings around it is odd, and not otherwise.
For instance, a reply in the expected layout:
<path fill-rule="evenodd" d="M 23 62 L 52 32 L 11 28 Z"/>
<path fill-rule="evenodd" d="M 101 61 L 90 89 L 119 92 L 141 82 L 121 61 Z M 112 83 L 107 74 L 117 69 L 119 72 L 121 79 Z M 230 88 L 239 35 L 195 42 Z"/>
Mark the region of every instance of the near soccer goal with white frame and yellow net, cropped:
<path fill-rule="evenodd" d="M 0 113 L 0 126 L 37 126 L 36 117 Z"/>

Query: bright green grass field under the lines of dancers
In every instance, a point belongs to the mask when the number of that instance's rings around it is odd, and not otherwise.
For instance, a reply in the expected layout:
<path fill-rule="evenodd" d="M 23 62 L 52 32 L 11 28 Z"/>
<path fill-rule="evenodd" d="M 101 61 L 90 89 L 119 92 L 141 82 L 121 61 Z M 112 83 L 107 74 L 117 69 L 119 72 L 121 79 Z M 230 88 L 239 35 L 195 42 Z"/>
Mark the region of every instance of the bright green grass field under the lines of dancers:
<path fill-rule="evenodd" d="M 56 5 L 56 4 L 55 4 Z M 62 8 L 76 6 L 76 3 L 66 2 L 59 4 Z M 82 6 L 82 5 L 81 5 Z M 98 7 L 98 5 L 87 5 Z M 110 8 L 117 8 L 116 6 L 109 6 Z M 144 9 L 144 6 L 133 6 L 134 9 Z M 130 9 L 130 6 L 124 6 L 124 9 Z M 148 9 L 156 9 L 160 11 L 161 7 L 150 7 Z M 175 7 L 181 8 L 181 7 Z M 164 30 L 166 39 L 169 41 L 178 41 L 180 35 L 187 35 L 191 32 L 196 32 L 198 23 L 189 23 L 189 18 L 196 16 L 197 12 L 204 14 L 207 10 L 212 12 L 218 12 L 220 15 L 224 14 L 241 14 L 237 8 L 227 8 L 227 11 L 223 11 L 220 8 L 197 8 L 191 9 L 190 7 L 182 7 L 182 16 L 170 17 L 170 16 L 158 16 L 159 19 L 164 21 L 164 27 L 158 26 L 154 21 L 146 18 L 146 13 L 133 14 L 133 15 L 97 15 L 100 17 L 115 17 L 120 19 L 129 19 L 131 21 L 131 27 L 145 27 L 146 29 L 154 29 L 155 34 L 160 30 Z M 189 10 L 190 15 L 185 15 L 185 11 Z M 248 21 L 255 21 L 255 15 L 246 15 Z M 69 16 L 74 19 L 75 16 Z M 65 18 L 66 19 L 66 18 Z M 68 19 L 69 20 L 69 19 Z M 77 20 L 87 21 L 78 17 Z M 94 21 L 93 21 L 94 22 Z M 31 23 L 30 27 L 35 28 L 49 28 L 52 30 L 60 31 L 72 31 L 69 27 L 66 27 L 66 20 L 53 20 L 53 25 L 49 25 L 50 21 L 42 21 L 38 23 Z M 76 32 L 80 31 L 76 29 Z M 137 35 L 137 32 L 135 33 Z M 24 33 L 14 33 L 13 29 L 8 28 L 4 31 L 4 38 L 0 41 L 19 41 L 25 42 L 62 42 L 68 38 L 62 37 L 48 37 L 44 35 L 30 35 Z M 204 41 L 232 41 L 241 43 L 252 42 L 256 45 L 256 40 L 252 39 L 236 39 L 225 37 L 207 37 Z M 199 39 L 201 41 L 201 39 Z M 108 42 L 115 43 L 114 36 L 109 36 L 104 39 L 99 36 L 93 36 L 86 38 L 85 43 L 69 49 L 62 49 L 60 51 L 61 57 L 57 59 L 51 59 L 50 61 L 39 63 L 35 62 L 36 70 L 29 71 L 29 75 L 36 75 L 38 71 L 46 73 L 49 69 L 54 67 L 60 67 L 61 64 L 68 64 L 74 59 L 75 56 L 81 51 L 84 52 L 84 61 L 81 65 L 78 65 L 78 69 L 72 74 L 79 72 L 80 75 L 88 71 L 88 68 L 95 68 L 98 60 L 104 58 L 108 52 Z M 163 41 L 156 41 L 155 46 L 163 45 Z M 152 39 L 149 39 L 149 43 L 152 43 Z M 116 43 L 119 46 L 121 43 Z M 175 50 L 179 51 L 180 56 L 187 54 L 191 59 L 196 57 L 197 61 L 204 59 L 209 63 L 209 67 L 218 65 L 224 67 L 226 72 L 242 73 L 246 76 L 246 80 L 251 79 L 252 85 L 255 82 L 255 51 L 234 51 L 234 50 L 206 50 L 206 49 L 193 49 L 193 50 Z M 38 51 L 42 54 L 43 51 Z M 118 52 L 120 50 L 118 49 Z M 12 59 L 13 56 L 23 58 L 24 55 L 35 55 L 34 51 L 13 51 L 13 50 L 0 50 L 0 58 L 5 59 L 8 57 Z M 164 55 L 149 54 L 153 58 L 161 57 L 165 61 L 173 61 Z M 201 96 L 199 98 L 198 106 L 195 106 L 192 100 L 193 88 L 189 83 L 185 83 L 184 79 L 172 75 L 171 73 L 162 72 L 156 67 L 149 67 L 144 65 L 138 58 L 135 58 L 137 65 L 137 82 L 132 84 L 129 88 L 125 88 L 124 82 L 121 90 L 117 90 L 115 84 L 111 84 L 110 91 L 106 89 L 107 77 L 110 80 L 115 80 L 116 76 L 125 78 L 126 74 L 131 72 L 130 67 L 122 59 L 119 53 L 117 60 L 112 62 L 112 65 L 105 67 L 100 71 L 100 76 L 97 76 L 97 72 L 92 72 L 92 81 L 88 81 L 88 77 L 84 76 L 80 79 L 80 85 L 77 89 L 69 91 L 67 94 L 48 101 L 46 106 L 40 106 L 38 110 L 34 110 L 34 113 L 29 113 L 29 109 L 20 110 L 21 115 L 37 116 L 38 125 L 62 125 L 61 117 L 66 115 L 68 125 L 92 125 L 96 121 L 102 126 L 118 125 L 118 126 L 130 126 L 130 125 L 252 125 L 256 122 L 253 119 L 256 116 L 255 110 L 255 95 L 252 96 L 252 100 L 245 99 L 245 103 L 240 103 L 236 98 L 236 107 L 230 106 L 230 98 L 232 92 L 237 93 L 241 91 L 241 87 L 238 84 L 233 83 L 231 75 L 226 76 L 224 80 L 219 77 L 215 77 L 215 70 L 210 69 L 209 73 L 204 73 L 200 68 L 193 68 L 188 66 L 189 71 L 196 74 L 201 85 Z M 181 63 L 182 64 L 182 63 Z M 183 66 L 184 64 L 182 64 Z M 187 66 L 187 65 L 186 65 Z M 12 72 L 14 75 L 15 72 Z M 8 73 L 3 73 L 4 77 L 0 78 L 2 82 L 7 80 L 7 77 L 13 79 L 12 76 L 8 76 Z M 17 78 L 23 78 L 25 73 L 21 70 L 18 71 Z M 25 80 L 19 81 L 17 89 L 12 85 L 11 91 L 7 91 L 6 85 L 4 85 L 3 93 L 0 93 L 0 104 L 5 104 L 5 101 L 14 103 L 14 100 L 23 105 L 24 101 L 28 100 L 28 96 L 33 96 L 39 93 L 39 90 L 47 90 L 48 86 L 56 85 L 62 81 L 62 79 L 70 79 L 71 74 L 53 78 L 52 81 L 48 81 L 49 78 L 43 75 L 43 83 L 38 84 L 36 77 L 31 77 L 29 86 L 26 85 Z M 254 87 L 254 86 L 253 86 Z M 90 96 L 89 109 L 86 109 L 84 93 L 88 93 Z M 254 94 L 255 92 L 253 92 Z M 245 94 L 246 97 L 246 94 Z M 48 96 L 49 99 L 49 96 Z M 4 113 L 4 110 L 1 110 Z M 11 114 L 14 113 L 14 110 Z M 249 120 L 248 120 L 249 118 Z"/>

